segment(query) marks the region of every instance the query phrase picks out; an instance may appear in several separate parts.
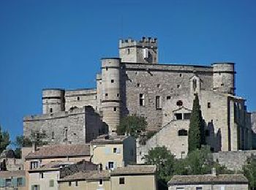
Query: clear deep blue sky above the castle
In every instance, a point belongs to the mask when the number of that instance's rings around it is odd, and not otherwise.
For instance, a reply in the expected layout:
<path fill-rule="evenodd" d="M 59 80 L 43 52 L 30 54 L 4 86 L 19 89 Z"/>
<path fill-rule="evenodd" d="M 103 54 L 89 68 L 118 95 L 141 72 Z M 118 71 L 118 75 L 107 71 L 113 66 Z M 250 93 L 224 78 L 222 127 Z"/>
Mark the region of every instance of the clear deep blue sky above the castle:
<path fill-rule="evenodd" d="M 236 63 L 256 110 L 256 1 L 0 1 L 0 123 L 12 139 L 42 112 L 42 88 L 89 88 L 118 39 L 157 37 L 160 63 Z"/>

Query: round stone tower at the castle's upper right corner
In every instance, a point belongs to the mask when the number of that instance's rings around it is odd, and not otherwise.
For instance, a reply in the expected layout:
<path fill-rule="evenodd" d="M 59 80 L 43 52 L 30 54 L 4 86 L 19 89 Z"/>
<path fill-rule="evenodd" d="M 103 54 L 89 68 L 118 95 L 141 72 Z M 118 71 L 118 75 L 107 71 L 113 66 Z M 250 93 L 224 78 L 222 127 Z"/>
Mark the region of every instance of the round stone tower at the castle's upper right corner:
<path fill-rule="evenodd" d="M 214 91 L 235 94 L 235 64 L 214 63 Z"/>

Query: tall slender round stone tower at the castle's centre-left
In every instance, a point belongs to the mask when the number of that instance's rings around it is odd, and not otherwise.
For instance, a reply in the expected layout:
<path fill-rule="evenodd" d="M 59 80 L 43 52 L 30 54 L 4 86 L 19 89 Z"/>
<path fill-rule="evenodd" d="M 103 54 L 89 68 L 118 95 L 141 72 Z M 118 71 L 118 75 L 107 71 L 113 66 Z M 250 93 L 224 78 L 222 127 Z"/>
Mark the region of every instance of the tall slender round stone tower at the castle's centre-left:
<path fill-rule="evenodd" d="M 102 58 L 102 112 L 110 134 L 116 133 L 120 108 L 120 58 Z"/>

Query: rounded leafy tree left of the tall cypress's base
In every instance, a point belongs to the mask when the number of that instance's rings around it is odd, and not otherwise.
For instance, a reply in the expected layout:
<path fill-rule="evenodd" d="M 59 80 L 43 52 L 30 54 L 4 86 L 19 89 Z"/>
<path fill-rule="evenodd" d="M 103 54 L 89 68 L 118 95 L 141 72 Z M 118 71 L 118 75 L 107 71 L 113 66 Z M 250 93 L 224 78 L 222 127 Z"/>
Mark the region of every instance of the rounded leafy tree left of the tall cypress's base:
<path fill-rule="evenodd" d="M 157 177 L 167 182 L 173 175 L 174 156 L 165 146 L 151 148 L 145 157 L 146 164 L 157 166 Z"/>

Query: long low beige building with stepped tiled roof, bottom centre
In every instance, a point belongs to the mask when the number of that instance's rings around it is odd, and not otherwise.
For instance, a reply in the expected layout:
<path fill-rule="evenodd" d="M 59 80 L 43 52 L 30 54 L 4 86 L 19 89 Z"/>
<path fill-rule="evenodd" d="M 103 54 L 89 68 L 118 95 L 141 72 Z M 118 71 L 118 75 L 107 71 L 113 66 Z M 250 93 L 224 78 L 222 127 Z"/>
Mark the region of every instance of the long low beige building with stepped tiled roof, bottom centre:
<path fill-rule="evenodd" d="M 60 190 L 155 190 L 157 189 L 156 167 L 129 165 L 114 170 L 84 171 L 59 180 Z"/>

